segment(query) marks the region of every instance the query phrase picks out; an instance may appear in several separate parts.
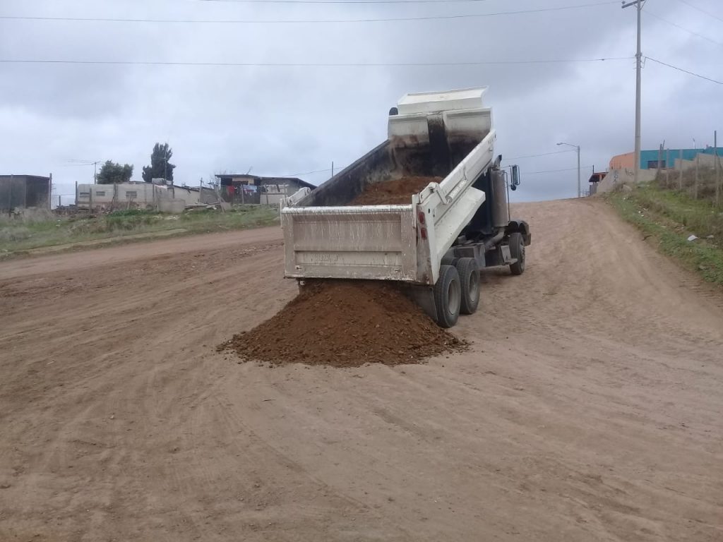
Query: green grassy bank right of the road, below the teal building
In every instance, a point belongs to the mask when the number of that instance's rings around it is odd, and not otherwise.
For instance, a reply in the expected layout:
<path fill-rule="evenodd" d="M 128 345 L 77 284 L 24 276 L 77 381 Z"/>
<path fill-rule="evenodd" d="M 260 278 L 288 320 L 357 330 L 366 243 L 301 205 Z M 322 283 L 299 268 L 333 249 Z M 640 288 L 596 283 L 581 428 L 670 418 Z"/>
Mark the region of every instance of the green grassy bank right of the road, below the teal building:
<path fill-rule="evenodd" d="M 705 280 L 723 286 L 723 210 L 680 192 L 642 185 L 605 195 L 646 238 Z M 695 235 L 695 241 L 688 237 Z"/>

